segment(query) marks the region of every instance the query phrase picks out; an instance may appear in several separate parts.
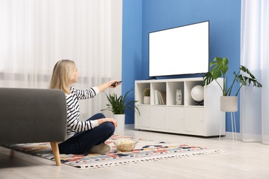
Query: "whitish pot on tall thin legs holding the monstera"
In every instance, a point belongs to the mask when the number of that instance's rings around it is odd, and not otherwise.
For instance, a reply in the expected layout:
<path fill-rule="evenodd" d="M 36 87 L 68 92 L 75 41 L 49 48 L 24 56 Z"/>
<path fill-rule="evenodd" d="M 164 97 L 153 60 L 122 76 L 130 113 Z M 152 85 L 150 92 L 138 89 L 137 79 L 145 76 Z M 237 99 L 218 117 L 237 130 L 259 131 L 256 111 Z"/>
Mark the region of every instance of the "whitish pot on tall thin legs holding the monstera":
<path fill-rule="evenodd" d="M 221 96 L 221 112 L 237 112 L 237 96 Z"/>

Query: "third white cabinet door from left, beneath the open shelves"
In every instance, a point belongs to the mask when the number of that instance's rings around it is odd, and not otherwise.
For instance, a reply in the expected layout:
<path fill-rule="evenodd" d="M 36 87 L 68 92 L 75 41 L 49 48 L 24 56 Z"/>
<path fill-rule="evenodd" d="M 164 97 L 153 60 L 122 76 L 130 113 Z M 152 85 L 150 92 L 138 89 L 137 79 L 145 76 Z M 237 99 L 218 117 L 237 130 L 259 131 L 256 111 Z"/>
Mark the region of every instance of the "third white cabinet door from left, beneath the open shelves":
<path fill-rule="evenodd" d="M 184 107 L 167 107 L 166 127 L 168 131 L 184 132 Z"/>

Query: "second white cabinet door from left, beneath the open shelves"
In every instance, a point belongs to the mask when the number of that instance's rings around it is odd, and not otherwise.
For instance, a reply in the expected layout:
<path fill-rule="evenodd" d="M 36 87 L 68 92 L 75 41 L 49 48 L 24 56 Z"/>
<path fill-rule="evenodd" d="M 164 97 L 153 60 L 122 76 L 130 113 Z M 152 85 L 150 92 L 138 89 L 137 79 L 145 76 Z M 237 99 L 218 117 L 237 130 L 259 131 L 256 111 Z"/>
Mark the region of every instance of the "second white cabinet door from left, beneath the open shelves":
<path fill-rule="evenodd" d="M 150 107 L 150 127 L 155 129 L 166 129 L 166 107 Z"/>

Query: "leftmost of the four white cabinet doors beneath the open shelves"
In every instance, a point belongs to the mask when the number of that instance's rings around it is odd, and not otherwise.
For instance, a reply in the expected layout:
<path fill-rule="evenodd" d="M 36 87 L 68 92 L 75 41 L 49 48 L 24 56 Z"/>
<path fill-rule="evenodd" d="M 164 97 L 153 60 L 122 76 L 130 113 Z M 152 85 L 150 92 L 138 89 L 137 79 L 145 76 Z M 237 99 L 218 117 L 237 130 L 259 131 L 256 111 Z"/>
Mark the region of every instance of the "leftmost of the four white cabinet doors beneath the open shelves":
<path fill-rule="evenodd" d="M 140 115 L 135 113 L 136 127 L 150 127 L 150 106 L 137 105 Z"/>

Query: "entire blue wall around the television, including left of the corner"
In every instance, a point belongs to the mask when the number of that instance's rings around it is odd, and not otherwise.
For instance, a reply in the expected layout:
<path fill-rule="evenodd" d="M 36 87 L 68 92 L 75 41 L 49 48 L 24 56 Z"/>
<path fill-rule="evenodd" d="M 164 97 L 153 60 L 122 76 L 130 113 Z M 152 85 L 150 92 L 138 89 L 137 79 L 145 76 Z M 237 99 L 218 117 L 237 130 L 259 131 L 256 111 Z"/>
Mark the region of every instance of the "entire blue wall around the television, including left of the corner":
<path fill-rule="evenodd" d="M 240 64 L 241 0 L 123 0 L 123 93 L 135 80 L 148 78 L 148 32 L 207 20 L 210 61 L 229 59 L 229 84 Z M 134 123 L 133 112 L 126 116 L 126 123 Z M 239 112 L 236 118 L 239 131 Z M 231 131 L 230 115 L 226 131 Z"/>

